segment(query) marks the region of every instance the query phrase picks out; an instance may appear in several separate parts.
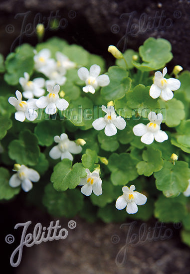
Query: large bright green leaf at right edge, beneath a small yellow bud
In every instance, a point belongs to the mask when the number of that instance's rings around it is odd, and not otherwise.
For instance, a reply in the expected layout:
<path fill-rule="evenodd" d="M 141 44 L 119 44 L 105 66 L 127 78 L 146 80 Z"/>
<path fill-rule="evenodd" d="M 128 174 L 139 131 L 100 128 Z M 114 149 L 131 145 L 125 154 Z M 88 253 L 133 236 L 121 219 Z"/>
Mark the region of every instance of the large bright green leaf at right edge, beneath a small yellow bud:
<path fill-rule="evenodd" d="M 188 187 L 190 168 L 184 161 L 177 161 L 175 165 L 165 161 L 163 169 L 155 172 L 154 176 L 157 189 L 163 191 L 166 197 L 177 196 Z"/>

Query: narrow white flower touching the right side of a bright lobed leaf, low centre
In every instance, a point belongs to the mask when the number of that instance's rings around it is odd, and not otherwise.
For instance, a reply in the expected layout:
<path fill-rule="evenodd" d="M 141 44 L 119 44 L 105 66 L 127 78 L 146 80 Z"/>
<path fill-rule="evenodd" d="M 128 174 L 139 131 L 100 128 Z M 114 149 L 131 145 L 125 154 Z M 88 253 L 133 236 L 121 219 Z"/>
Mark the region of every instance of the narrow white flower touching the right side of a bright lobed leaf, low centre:
<path fill-rule="evenodd" d="M 92 173 L 88 168 L 85 169 L 87 177 L 81 178 L 79 185 L 81 187 L 82 194 L 90 196 L 92 191 L 95 195 L 99 196 L 102 194 L 102 180 L 100 179 L 99 170 L 95 169 Z"/>

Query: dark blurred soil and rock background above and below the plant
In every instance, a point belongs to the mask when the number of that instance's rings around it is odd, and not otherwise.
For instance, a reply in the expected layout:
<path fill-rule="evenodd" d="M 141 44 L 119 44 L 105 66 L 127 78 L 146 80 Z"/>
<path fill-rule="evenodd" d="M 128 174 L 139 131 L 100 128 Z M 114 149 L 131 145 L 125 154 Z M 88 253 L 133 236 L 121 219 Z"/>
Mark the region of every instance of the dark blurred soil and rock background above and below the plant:
<path fill-rule="evenodd" d="M 53 16 L 61 20 L 56 31 L 48 26 L 48 17 Z M 47 29 L 44 40 L 57 35 L 102 55 L 108 65 L 114 63 L 107 52 L 110 44 L 121 51 L 138 50 L 150 36 L 166 38 L 172 43 L 174 54 L 169 71 L 177 64 L 190 70 L 188 0 L 1 0 L 0 52 L 6 56 L 23 42 L 35 45 L 37 18 Z M 25 247 L 20 265 L 11 268 L 9 258 L 21 237 L 21 230 L 13 229 L 15 224 L 31 220 L 32 232 L 37 222 L 48 227 L 50 221 L 56 220 L 43 210 L 26 205 L 22 197 L 23 193 L 0 204 L 1 269 L 4 266 L 8 274 L 190 274 L 190 249 L 181 243 L 180 229 L 173 224 L 167 225 L 174 232 L 170 240 L 129 246 L 126 264 L 119 268 L 115 259 L 125 245 L 127 231 L 120 229 L 121 224 L 88 224 L 80 218 L 74 218 L 77 227 L 68 229 L 67 239 Z M 67 228 L 68 221 L 61 218 L 61 227 Z M 155 222 L 150 220 L 148 226 L 154 227 Z M 138 233 L 141 224 L 135 225 L 134 232 Z M 7 234 L 14 235 L 14 244 L 5 243 Z M 111 241 L 115 234 L 120 237 L 118 244 Z"/>

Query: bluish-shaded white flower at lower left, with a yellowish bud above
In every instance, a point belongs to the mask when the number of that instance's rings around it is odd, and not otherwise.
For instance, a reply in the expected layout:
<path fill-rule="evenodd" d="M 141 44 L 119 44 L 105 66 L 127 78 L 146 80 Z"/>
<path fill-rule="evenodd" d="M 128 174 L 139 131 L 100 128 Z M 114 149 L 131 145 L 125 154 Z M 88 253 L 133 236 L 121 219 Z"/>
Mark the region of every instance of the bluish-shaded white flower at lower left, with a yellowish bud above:
<path fill-rule="evenodd" d="M 9 185 L 11 187 L 17 187 L 21 184 L 22 189 L 28 192 L 32 189 L 32 182 L 39 181 L 39 178 L 40 176 L 37 171 L 22 164 L 16 174 L 10 177 Z"/>

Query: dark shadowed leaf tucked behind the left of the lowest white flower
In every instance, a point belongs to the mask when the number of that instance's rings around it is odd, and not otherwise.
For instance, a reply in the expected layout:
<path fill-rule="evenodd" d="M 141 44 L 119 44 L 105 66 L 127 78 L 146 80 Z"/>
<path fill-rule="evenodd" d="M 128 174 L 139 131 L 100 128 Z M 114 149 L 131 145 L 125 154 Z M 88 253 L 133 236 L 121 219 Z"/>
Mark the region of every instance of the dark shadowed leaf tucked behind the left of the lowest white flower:
<path fill-rule="evenodd" d="M 123 222 L 128 217 L 125 210 L 118 210 L 115 203 L 108 204 L 98 210 L 98 217 L 105 223 Z"/>

